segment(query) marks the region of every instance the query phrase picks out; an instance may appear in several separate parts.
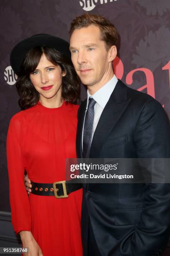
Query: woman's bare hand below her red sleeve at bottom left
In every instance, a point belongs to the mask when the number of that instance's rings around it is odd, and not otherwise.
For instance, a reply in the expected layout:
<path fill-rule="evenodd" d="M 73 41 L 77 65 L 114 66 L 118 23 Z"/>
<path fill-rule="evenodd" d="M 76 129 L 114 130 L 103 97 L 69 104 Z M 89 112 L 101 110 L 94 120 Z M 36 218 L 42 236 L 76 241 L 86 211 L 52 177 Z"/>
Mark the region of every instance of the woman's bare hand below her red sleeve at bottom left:
<path fill-rule="evenodd" d="M 40 246 L 35 241 L 30 231 L 21 231 L 20 238 L 23 243 L 23 248 L 28 248 L 29 252 L 24 253 L 24 256 L 43 256 Z"/>

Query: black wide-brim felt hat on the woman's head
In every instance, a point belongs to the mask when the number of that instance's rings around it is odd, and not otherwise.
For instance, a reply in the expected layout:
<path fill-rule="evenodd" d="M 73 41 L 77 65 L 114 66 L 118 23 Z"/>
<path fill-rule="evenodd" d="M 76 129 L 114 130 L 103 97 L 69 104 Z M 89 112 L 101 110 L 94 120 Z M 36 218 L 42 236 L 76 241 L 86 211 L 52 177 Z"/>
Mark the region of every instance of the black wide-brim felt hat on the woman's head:
<path fill-rule="evenodd" d="M 36 34 L 24 39 L 23 41 L 20 41 L 11 51 L 10 64 L 15 74 L 19 74 L 20 67 L 25 59 L 25 55 L 30 49 L 36 46 L 48 46 L 50 48 L 55 48 L 57 51 L 60 51 L 60 53 L 67 56 L 67 58 L 71 59 L 69 43 L 67 41 L 57 36 Z"/>

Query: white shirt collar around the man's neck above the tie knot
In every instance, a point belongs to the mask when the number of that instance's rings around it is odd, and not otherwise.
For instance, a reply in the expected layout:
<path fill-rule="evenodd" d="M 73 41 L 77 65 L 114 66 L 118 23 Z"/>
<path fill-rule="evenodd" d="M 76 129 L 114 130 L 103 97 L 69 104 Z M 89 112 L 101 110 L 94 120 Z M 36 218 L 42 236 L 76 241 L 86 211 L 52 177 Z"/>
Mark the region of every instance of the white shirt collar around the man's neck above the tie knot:
<path fill-rule="evenodd" d="M 97 102 L 97 104 L 99 104 L 104 109 L 105 105 L 107 104 L 107 101 L 110 98 L 110 95 L 115 89 L 117 81 L 118 81 L 117 77 L 114 75 L 109 82 L 107 82 L 104 86 L 102 86 L 93 95 L 90 95 L 89 91 L 87 90 L 87 106 L 88 106 L 89 98 L 91 97 Z M 87 106 L 86 106 L 86 109 L 87 109 Z"/>

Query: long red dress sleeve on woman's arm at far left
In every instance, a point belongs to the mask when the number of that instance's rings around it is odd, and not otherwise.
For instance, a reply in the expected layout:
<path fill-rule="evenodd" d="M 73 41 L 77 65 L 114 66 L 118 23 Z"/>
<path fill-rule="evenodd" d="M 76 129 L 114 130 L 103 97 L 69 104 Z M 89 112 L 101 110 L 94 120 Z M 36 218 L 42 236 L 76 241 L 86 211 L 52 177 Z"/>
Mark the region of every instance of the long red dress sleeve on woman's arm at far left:
<path fill-rule="evenodd" d="M 13 228 L 16 233 L 31 230 L 28 194 L 24 184 L 24 165 L 20 147 L 21 123 L 16 116 L 10 121 L 7 133 L 7 167 L 10 187 L 10 206 Z"/>

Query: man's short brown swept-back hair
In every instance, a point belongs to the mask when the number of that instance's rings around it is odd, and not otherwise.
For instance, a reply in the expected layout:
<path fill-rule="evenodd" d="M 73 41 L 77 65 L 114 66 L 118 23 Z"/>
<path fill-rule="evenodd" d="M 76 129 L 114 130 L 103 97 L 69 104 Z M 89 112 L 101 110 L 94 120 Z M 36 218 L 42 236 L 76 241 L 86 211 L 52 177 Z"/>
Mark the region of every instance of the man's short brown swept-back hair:
<path fill-rule="evenodd" d="M 70 36 L 75 29 L 86 28 L 90 25 L 97 26 L 100 29 L 100 39 L 105 42 L 107 51 L 111 46 L 116 45 L 118 39 L 117 29 L 109 20 L 97 14 L 85 13 L 72 20 Z"/>

